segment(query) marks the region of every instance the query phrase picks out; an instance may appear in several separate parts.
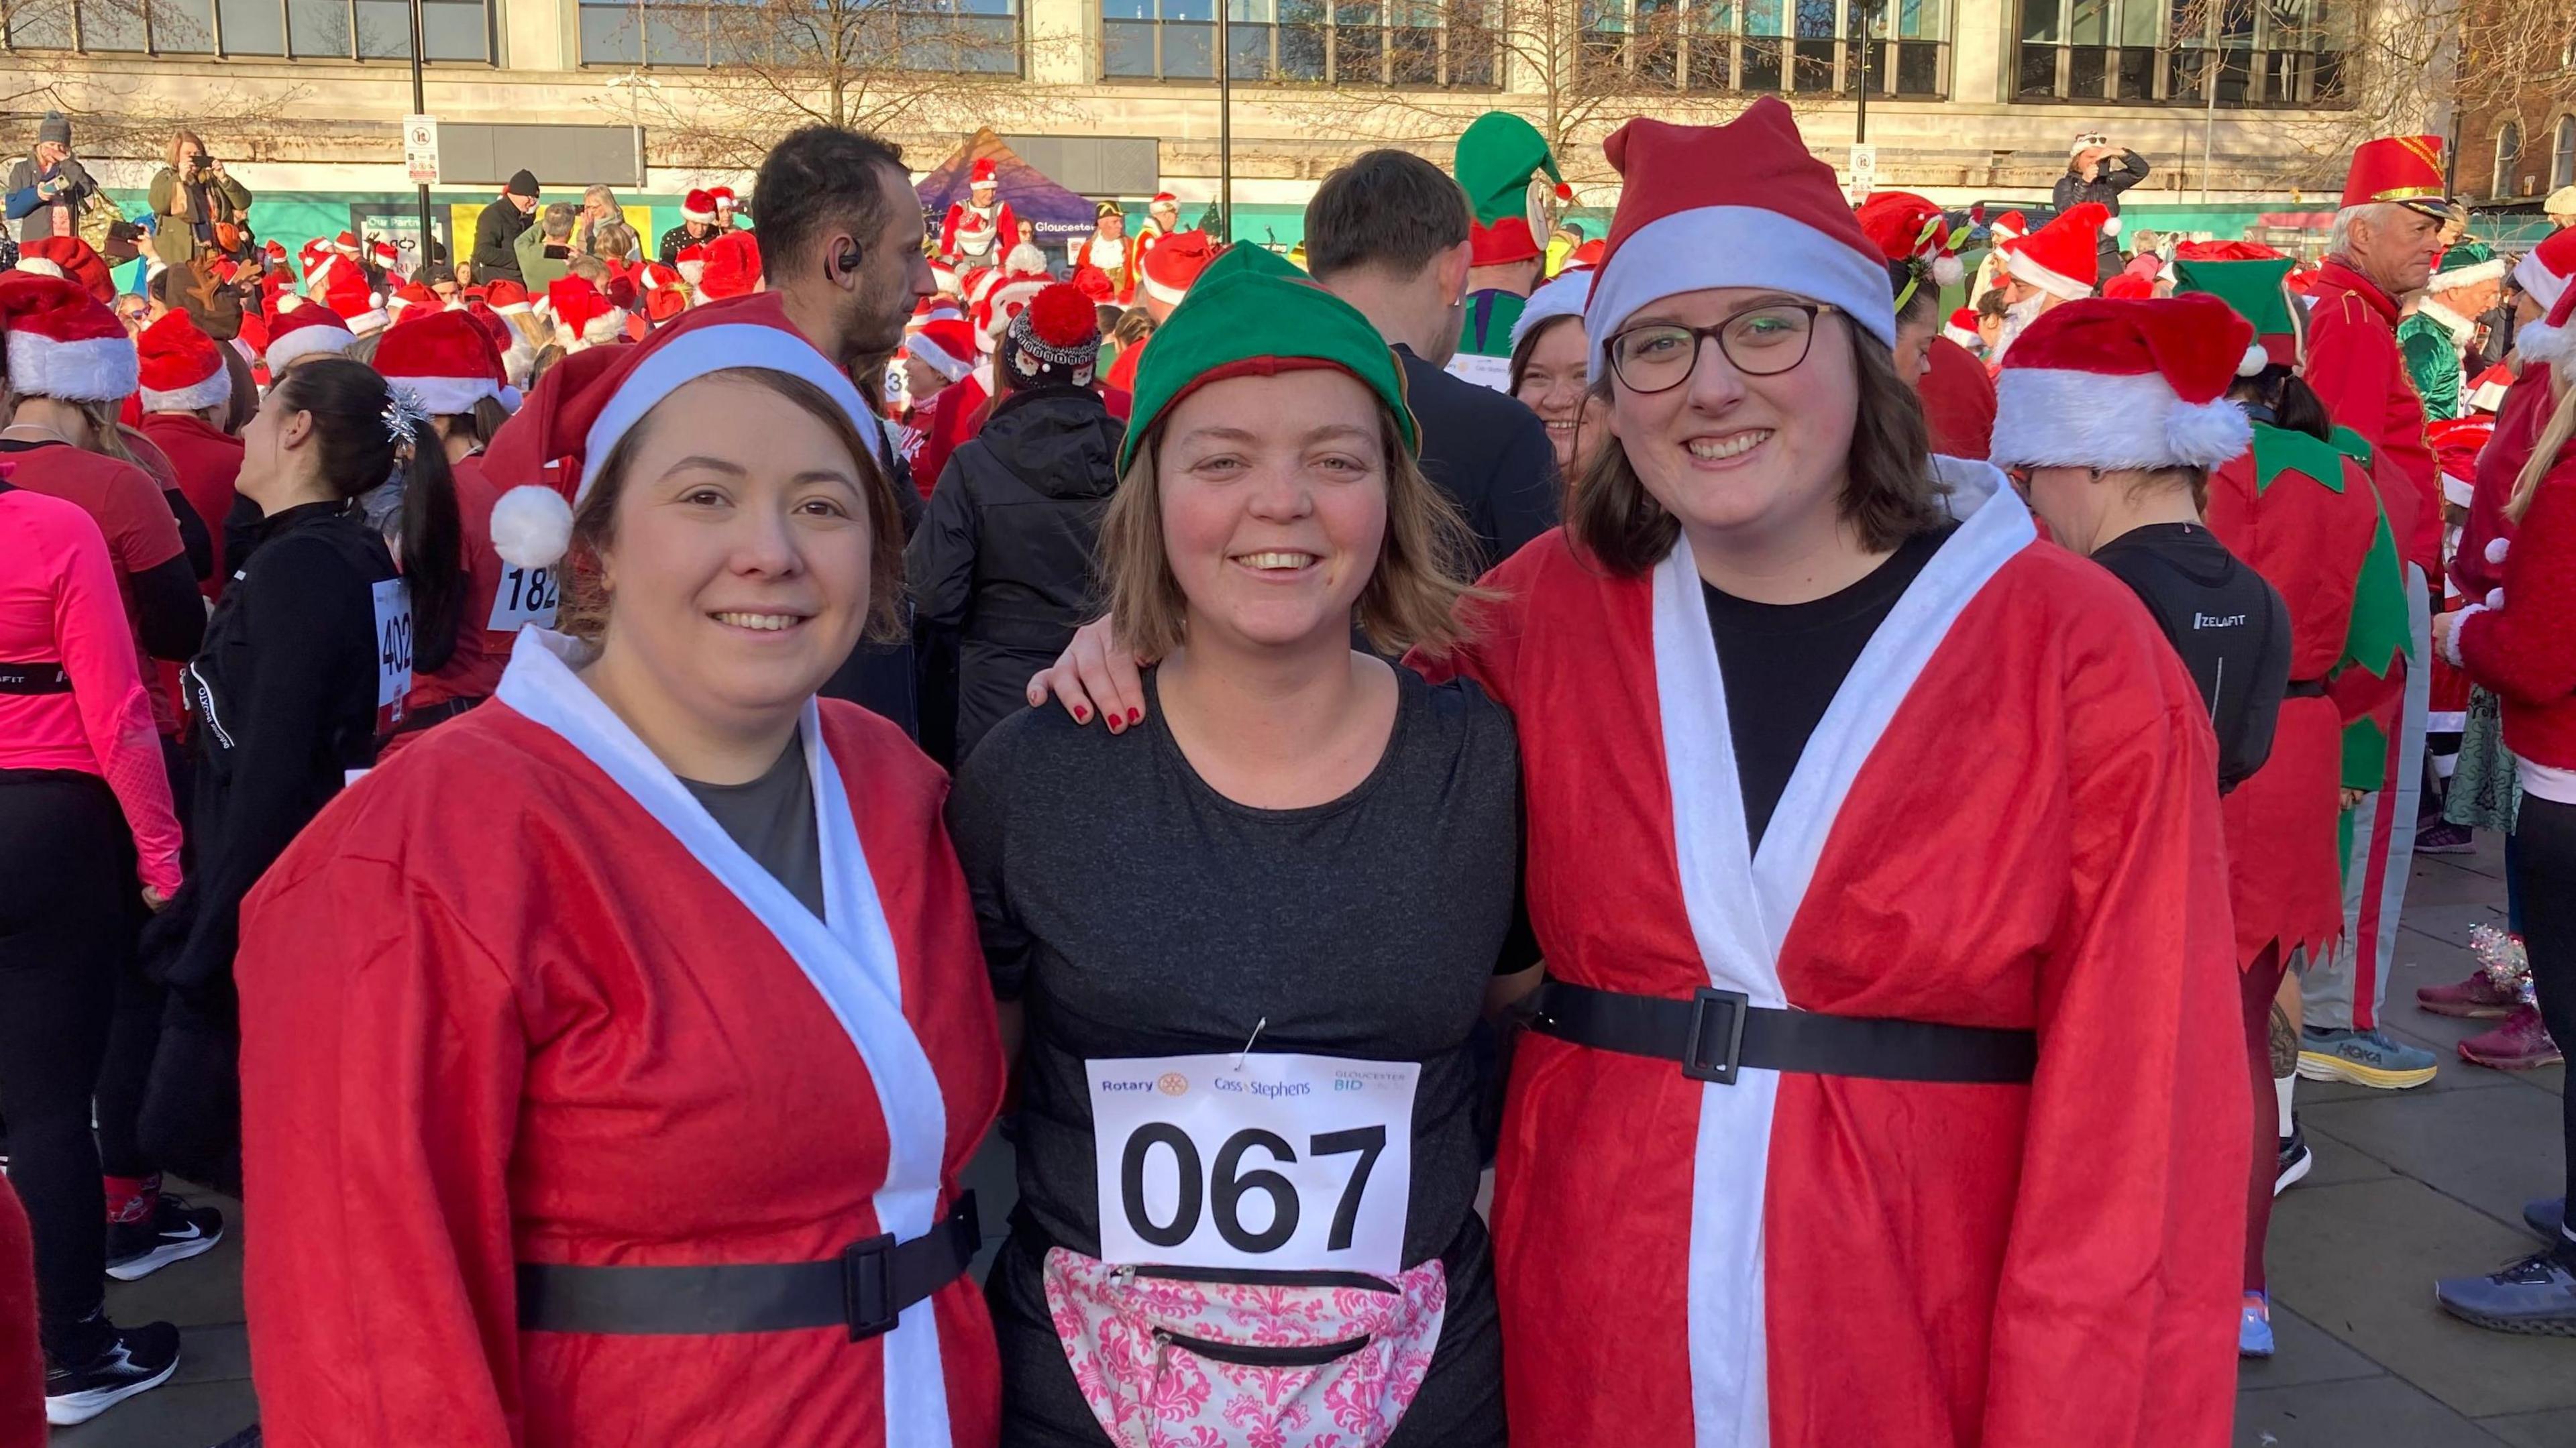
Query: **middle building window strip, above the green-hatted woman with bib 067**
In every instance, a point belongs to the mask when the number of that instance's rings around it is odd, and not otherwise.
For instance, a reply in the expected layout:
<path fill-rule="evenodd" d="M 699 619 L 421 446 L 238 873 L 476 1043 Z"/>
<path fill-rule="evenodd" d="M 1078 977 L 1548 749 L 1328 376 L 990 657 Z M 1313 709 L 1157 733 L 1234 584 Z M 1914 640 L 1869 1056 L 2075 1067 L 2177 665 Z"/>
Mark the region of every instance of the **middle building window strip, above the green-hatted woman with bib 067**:
<path fill-rule="evenodd" d="M 1499 0 L 1100 0 L 1100 75 L 1492 90 Z"/>

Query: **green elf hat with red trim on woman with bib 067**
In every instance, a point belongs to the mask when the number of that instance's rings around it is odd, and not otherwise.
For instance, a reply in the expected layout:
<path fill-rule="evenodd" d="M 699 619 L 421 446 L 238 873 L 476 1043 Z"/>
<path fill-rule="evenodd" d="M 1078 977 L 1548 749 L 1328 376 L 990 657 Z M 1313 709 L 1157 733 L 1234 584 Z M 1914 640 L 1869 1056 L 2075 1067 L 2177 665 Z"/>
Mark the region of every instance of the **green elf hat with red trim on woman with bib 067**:
<path fill-rule="evenodd" d="M 1172 317 L 1154 327 L 1154 345 L 1136 361 L 1118 472 L 1136 461 L 1154 425 L 1200 386 L 1311 368 L 1360 379 L 1396 415 L 1404 451 L 1419 456 L 1422 428 L 1404 399 L 1404 366 L 1368 317 L 1265 247 L 1226 247 L 1198 273 Z"/>

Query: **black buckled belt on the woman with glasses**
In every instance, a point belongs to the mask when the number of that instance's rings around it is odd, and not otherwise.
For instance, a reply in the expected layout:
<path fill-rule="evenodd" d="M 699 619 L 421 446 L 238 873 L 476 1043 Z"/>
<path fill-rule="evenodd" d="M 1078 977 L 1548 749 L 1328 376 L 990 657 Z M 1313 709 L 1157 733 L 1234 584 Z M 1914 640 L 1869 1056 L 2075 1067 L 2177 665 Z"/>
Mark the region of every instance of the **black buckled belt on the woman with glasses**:
<path fill-rule="evenodd" d="M 1690 1000 L 1548 982 L 1533 1031 L 1680 1062 L 1695 1082 L 1734 1085 L 1739 1067 L 1870 1077 L 1883 1082 L 2027 1082 L 2040 1062 L 2032 1031 L 1821 1015 L 1749 1005 L 1739 989 L 1700 987 Z"/>

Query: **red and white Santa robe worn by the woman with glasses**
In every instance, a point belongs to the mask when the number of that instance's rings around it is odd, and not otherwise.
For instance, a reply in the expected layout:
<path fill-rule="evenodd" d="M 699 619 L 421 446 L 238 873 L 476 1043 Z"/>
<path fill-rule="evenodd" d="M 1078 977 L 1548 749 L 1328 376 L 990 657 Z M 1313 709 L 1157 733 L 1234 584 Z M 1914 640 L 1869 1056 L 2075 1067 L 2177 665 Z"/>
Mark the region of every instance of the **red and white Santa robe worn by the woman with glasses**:
<path fill-rule="evenodd" d="M 1553 976 L 2040 1046 L 2032 1085 L 1703 1085 L 1522 1038 L 1494 1190 L 1520 1443 L 2228 1440 L 2251 1108 L 2215 742 L 2138 600 L 1942 466 L 1973 513 L 1754 853 L 1687 541 L 1613 577 L 1548 533 L 1489 577 L 1461 662 L 1520 719 Z"/>

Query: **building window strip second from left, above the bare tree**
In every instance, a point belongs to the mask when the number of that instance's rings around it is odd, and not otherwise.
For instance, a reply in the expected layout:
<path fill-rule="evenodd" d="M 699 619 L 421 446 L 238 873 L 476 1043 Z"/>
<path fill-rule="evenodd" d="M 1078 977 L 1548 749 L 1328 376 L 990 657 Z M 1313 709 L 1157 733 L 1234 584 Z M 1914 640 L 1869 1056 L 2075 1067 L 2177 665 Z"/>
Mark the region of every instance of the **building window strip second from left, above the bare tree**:
<path fill-rule="evenodd" d="M 1020 72 L 1018 0 L 814 0 L 822 23 L 786 23 L 778 5 L 744 0 L 580 0 L 582 64 L 714 67 L 768 72 L 842 70 Z"/>

